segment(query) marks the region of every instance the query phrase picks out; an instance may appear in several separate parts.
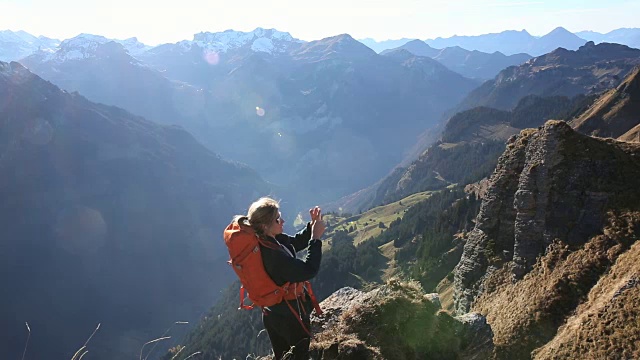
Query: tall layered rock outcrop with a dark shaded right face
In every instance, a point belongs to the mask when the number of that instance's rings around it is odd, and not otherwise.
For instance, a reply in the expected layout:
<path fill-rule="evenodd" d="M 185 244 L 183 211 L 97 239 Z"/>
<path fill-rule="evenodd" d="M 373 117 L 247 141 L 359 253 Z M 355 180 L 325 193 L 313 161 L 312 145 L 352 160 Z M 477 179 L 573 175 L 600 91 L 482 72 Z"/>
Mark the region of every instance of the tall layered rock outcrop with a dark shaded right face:
<path fill-rule="evenodd" d="M 491 183 L 456 267 L 459 313 L 500 265 L 522 278 L 555 239 L 580 246 L 601 231 L 608 210 L 638 207 L 640 147 L 549 121 L 509 141 Z"/>

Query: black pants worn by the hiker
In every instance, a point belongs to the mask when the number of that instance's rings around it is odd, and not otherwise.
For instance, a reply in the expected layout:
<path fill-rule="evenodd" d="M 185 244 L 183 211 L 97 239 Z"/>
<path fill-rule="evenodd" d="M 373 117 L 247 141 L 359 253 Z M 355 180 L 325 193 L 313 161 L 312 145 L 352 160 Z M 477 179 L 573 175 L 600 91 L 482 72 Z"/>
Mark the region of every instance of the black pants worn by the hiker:
<path fill-rule="evenodd" d="M 295 301 L 291 305 L 295 308 Z M 294 315 L 286 304 L 281 303 L 276 306 L 277 311 L 273 309 L 274 311 L 266 311 L 262 314 L 262 323 L 269 334 L 275 359 L 308 360 L 311 342 L 309 334 L 296 319 L 297 314 Z M 302 315 L 302 322 L 307 329 L 311 328 L 308 315 Z"/>

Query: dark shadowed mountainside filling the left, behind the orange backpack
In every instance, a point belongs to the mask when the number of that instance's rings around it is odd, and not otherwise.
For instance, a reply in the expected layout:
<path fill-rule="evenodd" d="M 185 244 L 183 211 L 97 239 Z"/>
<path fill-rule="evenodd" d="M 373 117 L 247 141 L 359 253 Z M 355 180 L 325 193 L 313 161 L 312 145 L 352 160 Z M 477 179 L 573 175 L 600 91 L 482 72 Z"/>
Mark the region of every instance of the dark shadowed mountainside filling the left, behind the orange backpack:
<path fill-rule="evenodd" d="M 0 63 L 0 353 L 25 321 L 29 358 L 71 359 L 102 323 L 92 356 L 121 359 L 197 320 L 230 282 L 211 239 L 270 191 L 181 128 Z"/>

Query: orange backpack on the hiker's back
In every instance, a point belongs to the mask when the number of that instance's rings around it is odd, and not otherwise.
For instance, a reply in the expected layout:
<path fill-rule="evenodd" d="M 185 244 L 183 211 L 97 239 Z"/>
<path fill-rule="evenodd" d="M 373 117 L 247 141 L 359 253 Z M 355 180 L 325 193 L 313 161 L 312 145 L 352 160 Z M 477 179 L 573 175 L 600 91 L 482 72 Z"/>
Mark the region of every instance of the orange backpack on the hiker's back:
<path fill-rule="evenodd" d="M 306 289 L 316 314 L 322 314 L 318 301 L 313 295 L 311 283 L 305 281 L 278 286 L 267 274 L 262 262 L 260 245 L 270 249 L 279 249 L 278 245 L 261 239 L 250 226 L 241 225 L 235 221 L 224 230 L 224 242 L 229 250 L 230 260 L 228 263 L 242 283 L 239 309 L 251 310 L 254 306 L 263 308 L 273 306 L 283 300 L 295 300 L 298 297 L 303 297 Z M 244 303 L 246 295 L 253 302 L 252 305 Z M 287 305 L 293 311 L 288 301 Z"/>

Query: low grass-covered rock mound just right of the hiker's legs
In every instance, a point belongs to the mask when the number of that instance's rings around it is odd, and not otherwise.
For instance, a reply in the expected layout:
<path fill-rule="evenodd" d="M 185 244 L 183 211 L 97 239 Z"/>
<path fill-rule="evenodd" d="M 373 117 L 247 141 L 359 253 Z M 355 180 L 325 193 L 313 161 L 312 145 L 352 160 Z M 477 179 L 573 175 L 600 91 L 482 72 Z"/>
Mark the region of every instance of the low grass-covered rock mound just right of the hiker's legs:
<path fill-rule="evenodd" d="M 493 349 L 484 316 L 454 318 L 437 294 L 414 282 L 390 280 L 369 292 L 343 288 L 320 306 L 324 314 L 312 318 L 314 359 L 479 359 Z"/>

